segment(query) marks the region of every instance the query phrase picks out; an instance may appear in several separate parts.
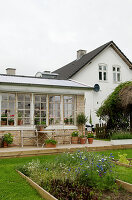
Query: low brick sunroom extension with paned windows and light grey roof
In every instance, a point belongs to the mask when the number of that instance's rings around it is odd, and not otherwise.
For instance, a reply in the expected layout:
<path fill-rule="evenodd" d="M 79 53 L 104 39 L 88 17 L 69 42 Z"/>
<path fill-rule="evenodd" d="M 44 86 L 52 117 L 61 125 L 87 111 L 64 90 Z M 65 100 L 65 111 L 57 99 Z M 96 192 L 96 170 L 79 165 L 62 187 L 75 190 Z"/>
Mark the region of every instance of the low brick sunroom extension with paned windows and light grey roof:
<path fill-rule="evenodd" d="M 69 134 L 78 129 L 76 116 L 84 112 L 84 94 L 92 87 L 9 74 L 0 75 L 0 137 L 12 133 L 14 145 L 20 146 L 21 132 L 28 136 L 37 124 Z M 30 139 L 25 141 L 25 145 L 31 144 Z"/>

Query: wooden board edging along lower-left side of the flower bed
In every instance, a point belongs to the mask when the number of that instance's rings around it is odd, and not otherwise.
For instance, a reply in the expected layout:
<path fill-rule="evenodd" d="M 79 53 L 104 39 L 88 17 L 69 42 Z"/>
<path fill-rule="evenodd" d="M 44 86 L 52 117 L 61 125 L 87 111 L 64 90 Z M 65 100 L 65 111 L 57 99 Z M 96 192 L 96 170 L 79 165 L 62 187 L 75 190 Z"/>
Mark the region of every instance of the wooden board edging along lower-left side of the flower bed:
<path fill-rule="evenodd" d="M 25 176 L 23 173 L 21 173 L 20 171 L 16 170 L 20 176 L 24 179 L 27 180 L 27 182 L 34 188 L 37 190 L 37 192 L 41 195 L 42 198 L 46 199 L 46 200 L 58 200 L 56 199 L 54 196 L 52 196 L 49 192 L 47 192 L 46 190 L 44 190 L 42 187 L 40 187 L 37 183 L 35 183 L 34 181 L 32 181 L 29 177 Z"/>

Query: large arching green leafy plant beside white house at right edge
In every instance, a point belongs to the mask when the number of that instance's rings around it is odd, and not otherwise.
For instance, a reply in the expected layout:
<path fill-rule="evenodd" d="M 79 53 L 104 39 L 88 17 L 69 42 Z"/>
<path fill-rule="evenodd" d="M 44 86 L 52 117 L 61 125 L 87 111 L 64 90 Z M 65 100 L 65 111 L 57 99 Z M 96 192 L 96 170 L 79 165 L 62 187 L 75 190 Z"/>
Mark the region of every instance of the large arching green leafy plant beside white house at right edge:
<path fill-rule="evenodd" d="M 108 129 L 126 129 L 129 125 L 131 111 L 124 109 L 120 96 L 122 89 L 128 86 L 132 87 L 132 81 L 121 83 L 117 86 L 96 112 L 98 117 L 107 121 Z"/>

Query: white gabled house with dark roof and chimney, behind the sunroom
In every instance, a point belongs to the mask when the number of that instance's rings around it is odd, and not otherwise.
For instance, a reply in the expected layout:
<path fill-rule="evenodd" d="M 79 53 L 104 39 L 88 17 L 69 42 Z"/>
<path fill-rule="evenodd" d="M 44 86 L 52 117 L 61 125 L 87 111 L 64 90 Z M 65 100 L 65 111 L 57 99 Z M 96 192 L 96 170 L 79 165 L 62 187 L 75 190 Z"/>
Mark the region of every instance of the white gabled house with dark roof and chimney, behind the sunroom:
<path fill-rule="evenodd" d="M 113 41 L 86 53 L 77 51 L 77 59 L 55 70 L 58 79 L 74 80 L 91 87 L 99 85 L 100 90 L 85 92 L 85 114 L 90 112 L 93 124 L 99 123 L 96 110 L 121 82 L 132 80 L 132 63 Z M 97 88 L 98 89 L 98 88 Z"/>

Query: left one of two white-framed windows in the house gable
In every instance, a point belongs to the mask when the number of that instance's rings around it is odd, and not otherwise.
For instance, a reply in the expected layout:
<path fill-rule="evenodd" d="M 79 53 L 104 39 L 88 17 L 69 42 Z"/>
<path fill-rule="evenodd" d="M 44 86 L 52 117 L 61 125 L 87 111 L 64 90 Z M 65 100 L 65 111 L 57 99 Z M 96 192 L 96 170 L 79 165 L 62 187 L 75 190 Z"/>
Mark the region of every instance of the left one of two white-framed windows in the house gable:
<path fill-rule="evenodd" d="M 106 67 L 106 69 L 104 69 L 104 67 Z M 108 67 L 107 67 L 107 64 L 105 63 L 99 63 L 98 65 L 98 79 L 99 81 L 107 81 L 108 80 Z M 100 79 L 100 73 L 101 73 L 101 76 L 102 76 L 102 79 Z M 104 73 L 106 74 L 106 80 L 105 80 L 105 75 Z"/>

